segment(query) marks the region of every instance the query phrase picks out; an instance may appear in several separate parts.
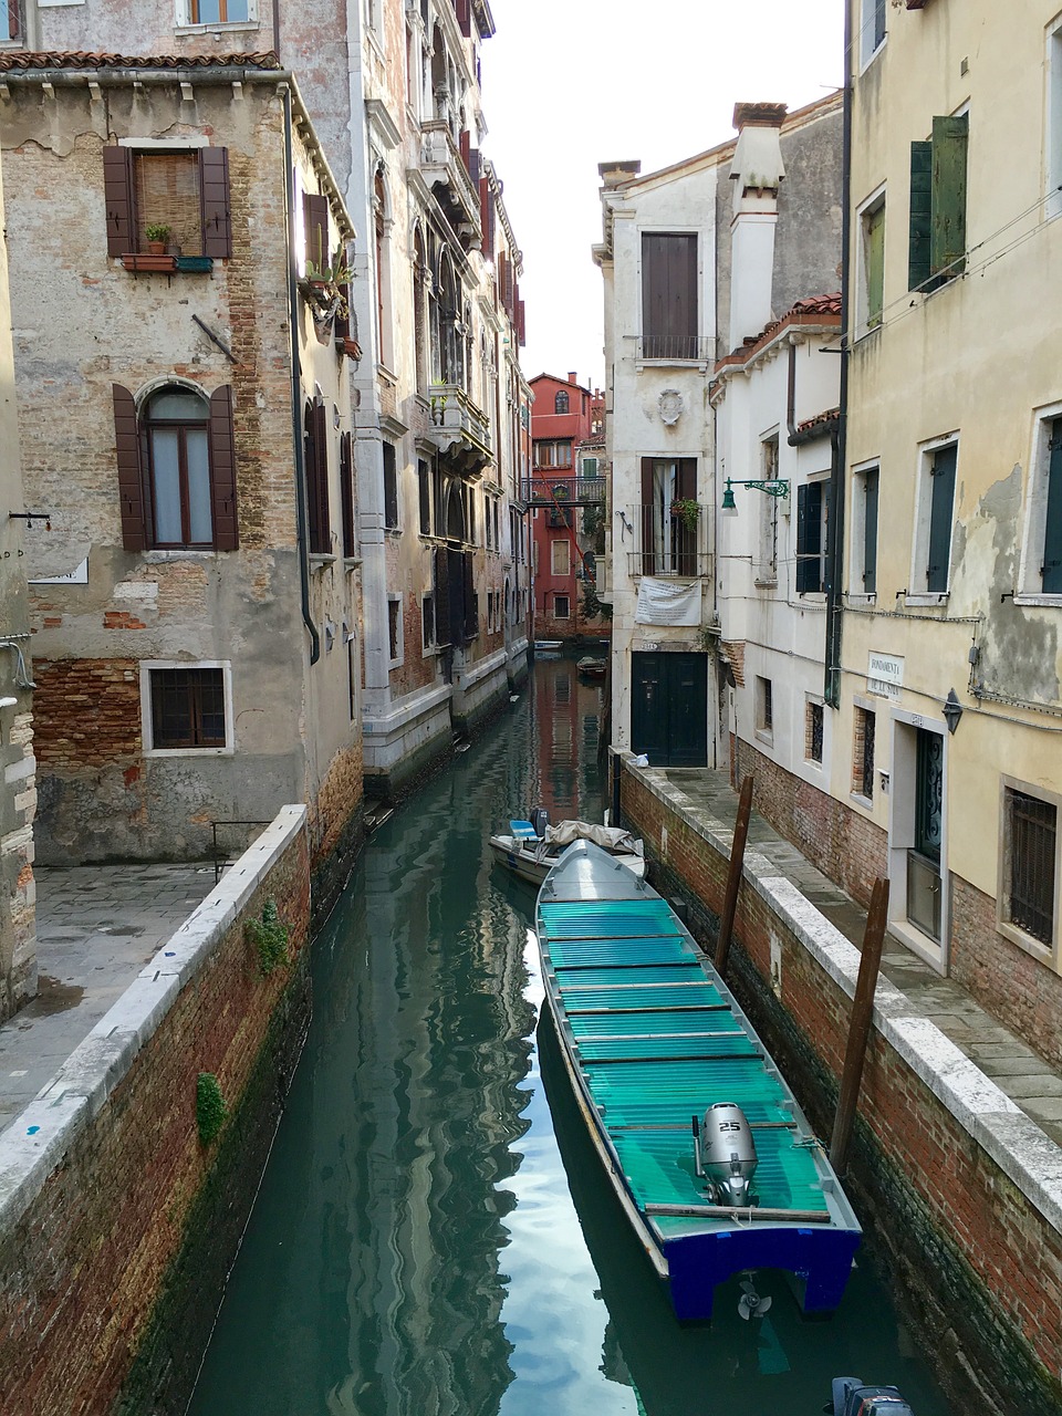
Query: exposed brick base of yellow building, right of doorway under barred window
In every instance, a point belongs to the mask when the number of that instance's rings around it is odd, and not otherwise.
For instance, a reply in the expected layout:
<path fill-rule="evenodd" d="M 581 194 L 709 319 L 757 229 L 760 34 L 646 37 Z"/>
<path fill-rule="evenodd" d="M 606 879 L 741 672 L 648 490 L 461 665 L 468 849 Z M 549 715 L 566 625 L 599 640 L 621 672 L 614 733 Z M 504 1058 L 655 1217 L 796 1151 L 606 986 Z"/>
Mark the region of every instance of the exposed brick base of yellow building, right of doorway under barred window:
<path fill-rule="evenodd" d="M 995 901 L 952 875 L 956 983 L 1054 1066 L 1062 1066 L 1062 978 L 995 929 Z"/>

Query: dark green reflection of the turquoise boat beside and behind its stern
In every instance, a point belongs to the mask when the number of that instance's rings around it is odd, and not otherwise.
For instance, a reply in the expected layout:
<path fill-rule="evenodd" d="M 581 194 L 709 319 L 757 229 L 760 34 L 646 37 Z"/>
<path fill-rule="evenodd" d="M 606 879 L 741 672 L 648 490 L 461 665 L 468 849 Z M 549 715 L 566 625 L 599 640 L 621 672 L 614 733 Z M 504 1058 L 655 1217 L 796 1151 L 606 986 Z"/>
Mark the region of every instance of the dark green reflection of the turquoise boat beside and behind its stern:
<path fill-rule="evenodd" d="M 946 1410 L 927 1378 L 912 1375 L 908 1354 L 901 1358 L 884 1293 L 877 1286 L 868 1293 L 860 1281 L 868 1274 L 860 1270 L 845 1306 L 830 1321 L 804 1318 L 784 1277 L 758 1270 L 756 1291 L 772 1298 L 766 1317 L 745 1321 L 739 1315 L 742 1291 L 732 1280 L 716 1294 L 711 1324 L 680 1324 L 605 1178 L 548 1014 L 538 1025 L 538 1061 L 572 1201 L 609 1311 L 600 1371 L 634 1389 L 640 1412 L 818 1412 L 833 1376 L 871 1368 L 875 1381 L 901 1382 L 906 1392 L 920 1393 L 923 1405 L 910 1396 L 919 1416 Z"/>

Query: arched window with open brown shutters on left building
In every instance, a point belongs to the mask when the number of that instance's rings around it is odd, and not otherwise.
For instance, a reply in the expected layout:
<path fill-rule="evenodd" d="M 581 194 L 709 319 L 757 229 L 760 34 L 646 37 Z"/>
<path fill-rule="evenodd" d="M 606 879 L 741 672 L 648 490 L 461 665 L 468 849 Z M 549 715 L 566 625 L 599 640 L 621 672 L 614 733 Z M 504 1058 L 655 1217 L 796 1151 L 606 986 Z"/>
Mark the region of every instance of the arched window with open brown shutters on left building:
<path fill-rule="evenodd" d="M 112 388 L 125 548 L 234 551 L 232 388 L 208 399 L 195 385 L 163 384 L 139 409 L 127 388 Z"/>

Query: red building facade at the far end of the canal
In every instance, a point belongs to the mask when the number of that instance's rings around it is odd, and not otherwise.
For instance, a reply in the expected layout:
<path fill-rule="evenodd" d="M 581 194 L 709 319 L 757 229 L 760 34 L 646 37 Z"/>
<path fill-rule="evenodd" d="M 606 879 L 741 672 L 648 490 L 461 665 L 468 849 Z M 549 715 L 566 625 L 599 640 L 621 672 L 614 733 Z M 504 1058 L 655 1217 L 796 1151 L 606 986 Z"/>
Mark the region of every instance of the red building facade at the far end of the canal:
<path fill-rule="evenodd" d="M 566 379 L 539 374 L 531 388 L 534 634 L 602 639 L 609 622 L 586 606 L 605 507 L 602 395 L 583 388 L 575 374 Z"/>

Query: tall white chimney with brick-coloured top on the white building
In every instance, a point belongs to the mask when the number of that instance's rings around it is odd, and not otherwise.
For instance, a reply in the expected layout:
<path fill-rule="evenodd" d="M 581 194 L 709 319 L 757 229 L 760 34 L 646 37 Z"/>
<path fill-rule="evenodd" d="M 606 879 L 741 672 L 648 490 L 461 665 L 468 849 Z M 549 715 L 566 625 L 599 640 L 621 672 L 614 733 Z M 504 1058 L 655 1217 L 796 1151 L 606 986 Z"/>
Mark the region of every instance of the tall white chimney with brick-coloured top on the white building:
<path fill-rule="evenodd" d="M 779 129 L 784 103 L 735 103 L 738 142 L 731 161 L 733 218 L 731 221 L 729 347 L 760 333 L 773 319 L 775 227 L 777 190 L 786 176 Z"/>

